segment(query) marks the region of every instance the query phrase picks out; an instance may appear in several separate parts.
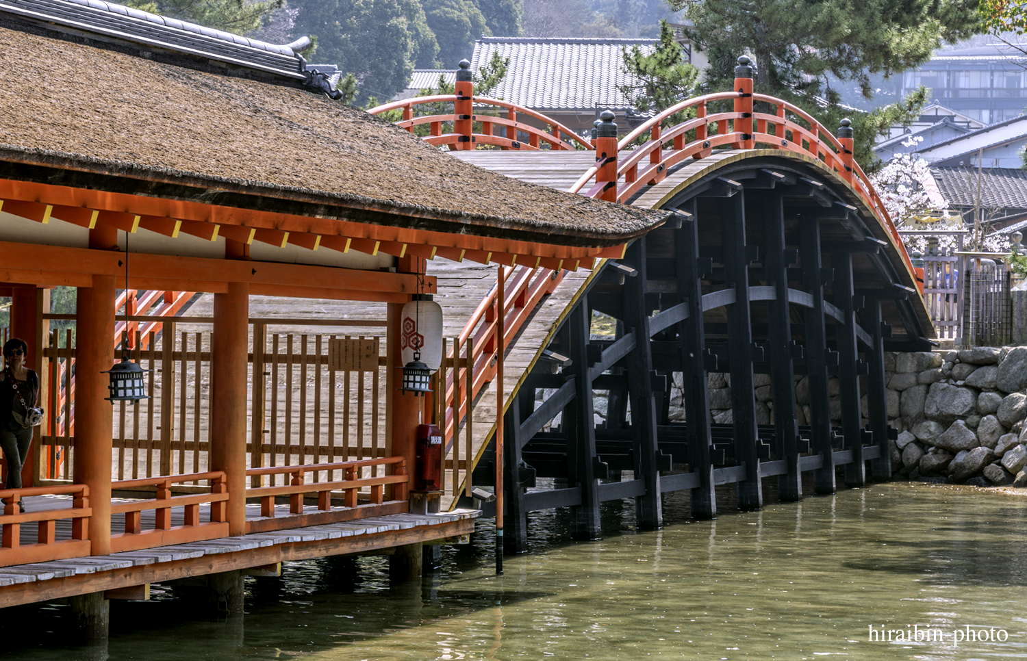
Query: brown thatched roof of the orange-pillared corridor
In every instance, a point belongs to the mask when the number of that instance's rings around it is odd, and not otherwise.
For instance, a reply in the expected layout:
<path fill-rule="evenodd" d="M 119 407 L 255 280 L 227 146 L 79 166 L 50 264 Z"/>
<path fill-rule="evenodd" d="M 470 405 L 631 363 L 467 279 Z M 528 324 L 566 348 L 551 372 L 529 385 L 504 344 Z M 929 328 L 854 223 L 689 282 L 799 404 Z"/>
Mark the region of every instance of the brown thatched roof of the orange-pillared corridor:
<path fill-rule="evenodd" d="M 121 192 L 555 244 L 621 243 L 663 218 L 488 172 L 289 83 L 14 22 L 0 44 L 3 178 L 106 190 L 116 176 Z"/>

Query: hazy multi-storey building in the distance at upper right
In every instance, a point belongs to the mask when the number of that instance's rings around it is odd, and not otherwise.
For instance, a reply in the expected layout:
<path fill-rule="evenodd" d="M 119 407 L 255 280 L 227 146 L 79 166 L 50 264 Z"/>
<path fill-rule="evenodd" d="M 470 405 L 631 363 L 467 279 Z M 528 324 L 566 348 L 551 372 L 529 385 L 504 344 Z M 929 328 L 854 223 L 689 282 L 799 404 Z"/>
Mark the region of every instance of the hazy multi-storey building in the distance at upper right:
<path fill-rule="evenodd" d="M 933 102 L 993 124 L 1024 114 L 1027 59 L 1004 44 L 947 50 L 903 75 L 904 94 L 918 85 L 930 88 Z"/>

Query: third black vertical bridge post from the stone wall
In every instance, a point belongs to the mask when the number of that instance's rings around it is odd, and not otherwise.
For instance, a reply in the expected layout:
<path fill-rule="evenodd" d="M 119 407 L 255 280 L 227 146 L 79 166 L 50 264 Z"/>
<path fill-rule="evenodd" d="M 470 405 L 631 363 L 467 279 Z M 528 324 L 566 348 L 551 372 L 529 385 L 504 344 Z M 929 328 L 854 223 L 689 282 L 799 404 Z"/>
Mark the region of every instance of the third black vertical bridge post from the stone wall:
<path fill-rule="evenodd" d="M 824 283 L 834 277 L 833 269 L 821 262 L 821 225 L 815 218 L 803 218 L 799 226 L 802 280 L 812 297 L 806 310 L 806 374 L 809 384 L 809 426 L 813 453 L 822 458 L 813 472 L 813 491 L 835 493 L 834 455 L 831 449 L 831 401 L 828 395 L 828 340 L 824 320 Z"/>

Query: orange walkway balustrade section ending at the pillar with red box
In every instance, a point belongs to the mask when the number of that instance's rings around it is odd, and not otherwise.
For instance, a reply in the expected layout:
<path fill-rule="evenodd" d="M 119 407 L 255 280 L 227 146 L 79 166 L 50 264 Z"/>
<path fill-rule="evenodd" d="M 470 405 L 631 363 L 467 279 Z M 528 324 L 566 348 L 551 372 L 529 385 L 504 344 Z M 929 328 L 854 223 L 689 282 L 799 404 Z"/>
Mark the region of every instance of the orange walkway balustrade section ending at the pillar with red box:
<path fill-rule="evenodd" d="M 362 476 L 363 469 L 366 467 L 385 467 L 393 466 L 391 475 L 371 475 L 369 477 Z M 306 483 L 304 475 L 306 473 L 314 472 L 328 472 L 331 475 L 334 471 L 341 471 L 345 473 L 345 479 L 332 480 L 331 478 L 327 481 L 311 482 Z M 261 516 L 265 519 L 263 521 L 246 521 L 246 532 L 260 532 L 267 530 L 277 530 L 281 528 L 296 528 L 298 524 L 295 520 L 290 520 L 289 517 L 281 519 L 281 524 L 275 524 L 273 521 L 268 521 L 267 519 L 273 519 L 275 516 L 274 512 L 274 499 L 277 497 L 289 496 L 289 511 L 290 514 L 302 515 L 303 514 L 303 498 L 307 494 L 317 495 L 317 509 L 318 513 L 312 515 L 310 521 L 299 523 L 299 524 L 313 524 L 327 523 L 333 520 L 350 520 L 353 518 L 360 518 L 364 516 L 378 516 L 385 513 L 394 513 L 395 511 L 407 511 L 407 481 L 410 479 L 407 475 L 407 460 L 404 457 L 385 457 L 382 459 L 365 459 L 360 461 L 346 461 L 346 462 L 333 462 L 325 464 L 304 464 L 302 466 L 272 466 L 268 468 L 251 468 L 246 470 L 246 476 L 261 476 L 261 475 L 290 475 L 291 483 L 279 485 L 279 487 L 256 487 L 246 490 L 246 499 L 256 498 L 260 500 L 260 510 Z M 396 509 L 381 509 L 381 508 L 370 508 L 366 512 L 358 512 L 352 508 L 356 508 L 359 504 L 357 498 L 357 492 L 362 488 L 370 488 L 370 504 L 371 505 L 382 505 L 385 503 L 385 484 L 395 484 L 393 488 L 393 501 L 400 503 L 403 507 Z M 343 493 L 343 507 L 342 510 L 332 509 L 332 492 L 342 492 Z M 400 502 L 403 501 L 403 502 Z"/>

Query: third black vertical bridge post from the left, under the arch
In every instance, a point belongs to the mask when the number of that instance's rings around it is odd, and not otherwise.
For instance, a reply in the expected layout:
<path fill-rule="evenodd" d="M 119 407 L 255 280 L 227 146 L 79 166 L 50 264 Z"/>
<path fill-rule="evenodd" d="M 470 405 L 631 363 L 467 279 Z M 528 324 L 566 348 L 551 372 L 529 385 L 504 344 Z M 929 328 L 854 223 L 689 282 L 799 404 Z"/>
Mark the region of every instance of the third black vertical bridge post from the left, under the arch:
<path fill-rule="evenodd" d="M 646 237 L 636 239 L 624 255 L 624 262 L 640 277 L 624 283 L 622 290 L 624 323 L 634 327 L 633 336 L 640 338 L 625 357 L 627 389 L 632 406 L 632 431 L 635 443 L 635 478 L 645 481 L 645 492 L 635 499 L 636 520 L 639 528 L 654 530 L 663 526 L 663 509 L 659 489 L 659 455 L 656 438 L 656 398 L 652 383 L 652 353 L 649 345 L 649 314 L 645 306 L 646 293 Z M 626 339 L 626 338 L 624 338 Z M 618 340 L 611 351 L 623 340 Z M 606 352 L 604 352 L 605 354 Z M 604 356 L 605 357 L 605 356 Z M 612 364 L 612 363 L 611 363 Z"/>

